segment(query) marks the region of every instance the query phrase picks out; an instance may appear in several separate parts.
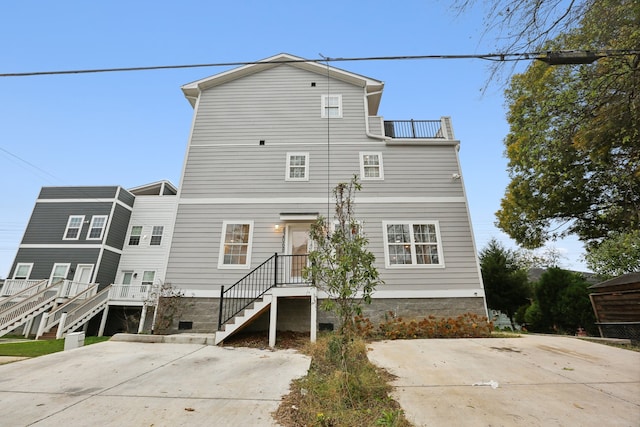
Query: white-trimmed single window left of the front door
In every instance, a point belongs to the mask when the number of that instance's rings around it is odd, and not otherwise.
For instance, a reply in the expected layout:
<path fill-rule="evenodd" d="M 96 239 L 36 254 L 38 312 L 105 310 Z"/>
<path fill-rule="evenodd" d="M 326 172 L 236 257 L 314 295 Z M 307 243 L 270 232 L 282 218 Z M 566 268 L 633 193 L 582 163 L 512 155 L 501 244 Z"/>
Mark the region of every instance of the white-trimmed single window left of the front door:
<path fill-rule="evenodd" d="M 249 268 L 253 221 L 224 221 L 218 268 Z"/>

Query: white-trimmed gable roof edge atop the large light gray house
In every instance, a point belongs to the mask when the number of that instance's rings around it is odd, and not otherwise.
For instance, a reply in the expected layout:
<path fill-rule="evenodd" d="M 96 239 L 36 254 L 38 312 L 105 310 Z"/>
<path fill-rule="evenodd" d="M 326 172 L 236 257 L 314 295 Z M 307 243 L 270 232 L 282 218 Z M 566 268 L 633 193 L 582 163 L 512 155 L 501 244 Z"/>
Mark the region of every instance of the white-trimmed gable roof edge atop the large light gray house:
<path fill-rule="evenodd" d="M 327 67 L 322 63 L 310 61 L 288 53 L 280 53 L 255 63 L 243 65 L 220 74 L 215 74 L 210 77 L 205 77 L 204 79 L 196 80 L 195 82 L 187 83 L 182 86 L 182 92 L 187 100 L 189 100 L 191 106 L 194 107 L 196 99 L 203 90 L 222 85 L 241 77 L 259 73 L 260 71 L 278 67 L 283 64 L 311 71 L 312 73 L 322 76 L 327 76 L 327 74 L 329 74 L 329 77 L 331 78 L 365 88 L 369 104 L 369 114 L 376 115 L 378 113 L 378 106 L 380 105 L 384 82 L 362 76 L 360 74 L 341 70 L 340 68 Z"/>

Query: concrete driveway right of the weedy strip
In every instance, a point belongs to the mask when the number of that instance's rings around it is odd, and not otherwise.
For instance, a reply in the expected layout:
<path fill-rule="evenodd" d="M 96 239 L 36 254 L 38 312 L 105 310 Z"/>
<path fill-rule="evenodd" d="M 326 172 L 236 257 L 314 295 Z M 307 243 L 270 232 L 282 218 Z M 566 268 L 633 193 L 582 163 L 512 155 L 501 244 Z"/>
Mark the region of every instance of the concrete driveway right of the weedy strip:
<path fill-rule="evenodd" d="M 384 341 L 416 426 L 640 426 L 640 353 L 571 337 Z"/>

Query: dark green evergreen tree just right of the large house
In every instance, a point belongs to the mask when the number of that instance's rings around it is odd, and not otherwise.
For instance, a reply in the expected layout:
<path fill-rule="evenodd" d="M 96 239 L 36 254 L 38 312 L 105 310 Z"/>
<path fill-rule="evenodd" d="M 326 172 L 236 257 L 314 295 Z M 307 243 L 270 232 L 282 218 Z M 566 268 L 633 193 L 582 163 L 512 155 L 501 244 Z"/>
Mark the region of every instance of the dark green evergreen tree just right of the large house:
<path fill-rule="evenodd" d="M 491 239 L 480 251 L 480 269 L 487 305 L 506 314 L 513 328 L 516 311 L 527 304 L 531 294 L 527 271 L 517 252 Z"/>

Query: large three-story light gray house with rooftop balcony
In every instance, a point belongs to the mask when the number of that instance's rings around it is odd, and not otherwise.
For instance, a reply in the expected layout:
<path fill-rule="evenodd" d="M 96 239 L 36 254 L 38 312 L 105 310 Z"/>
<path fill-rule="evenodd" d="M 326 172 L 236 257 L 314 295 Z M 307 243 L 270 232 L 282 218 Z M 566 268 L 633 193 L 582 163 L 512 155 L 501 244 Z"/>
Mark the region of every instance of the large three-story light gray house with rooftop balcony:
<path fill-rule="evenodd" d="M 166 280 L 193 299 L 183 324 L 212 332 L 246 317 L 230 333 L 254 317 L 312 337 L 330 327 L 301 270 L 310 224 L 333 215 L 330 189 L 354 174 L 385 281 L 367 315 L 487 315 L 451 120 L 384 120 L 383 88 L 288 54 L 182 87 L 194 118 Z M 256 287 L 253 308 L 227 311 Z"/>

